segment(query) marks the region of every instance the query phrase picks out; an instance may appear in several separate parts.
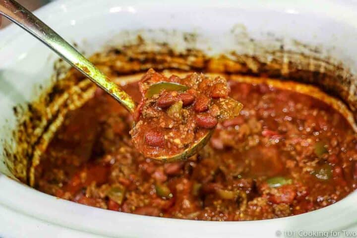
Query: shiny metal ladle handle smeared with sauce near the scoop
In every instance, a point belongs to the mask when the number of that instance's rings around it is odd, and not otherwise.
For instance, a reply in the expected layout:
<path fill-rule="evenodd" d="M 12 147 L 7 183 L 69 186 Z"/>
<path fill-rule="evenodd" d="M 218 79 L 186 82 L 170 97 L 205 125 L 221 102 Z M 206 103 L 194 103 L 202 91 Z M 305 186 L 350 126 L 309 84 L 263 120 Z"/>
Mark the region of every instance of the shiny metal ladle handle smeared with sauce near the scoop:
<path fill-rule="evenodd" d="M 117 84 L 110 81 L 104 73 L 68 44 L 59 34 L 21 4 L 15 0 L 0 0 L 0 14 L 31 33 L 55 51 L 63 60 L 66 60 L 95 84 L 112 95 L 130 113 L 134 112 L 135 103 L 127 93 L 120 89 Z"/>

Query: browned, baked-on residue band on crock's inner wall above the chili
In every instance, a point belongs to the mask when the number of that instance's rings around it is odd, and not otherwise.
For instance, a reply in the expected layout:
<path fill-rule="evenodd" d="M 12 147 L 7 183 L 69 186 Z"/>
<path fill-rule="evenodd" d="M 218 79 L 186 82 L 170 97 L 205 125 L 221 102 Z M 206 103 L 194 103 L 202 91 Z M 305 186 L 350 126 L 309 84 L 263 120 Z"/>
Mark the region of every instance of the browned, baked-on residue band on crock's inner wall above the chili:
<path fill-rule="evenodd" d="M 255 75 L 281 80 L 295 80 L 319 86 L 325 92 L 342 99 L 350 110 L 356 112 L 357 96 L 355 76 L 342 64 L 333 60 L 322 60 L 314 56 L 284 51 L 259 52 L 257 55 L 238 55 L 232 51 L 228 55 L 208 57 L 202 51 L 186 49 L 176 52 L 168 44 L 156 44 L 148 51 L 142 38 L 136 44 L 120 46 L 95 54 L 91 61 L 104 73 L 111 69 L 118 79 L 123 75 L 155 70 L 202 71 L 230 75 Z M 44 93 L 36 102 L 18 113 L 19 126 L 14 132 L 18 143 L 15 151 L 5 150 L 7 167 L 18 179 L 34 184 L 34 167 L 38 165 L 40 154 L 51 140 L 68 110 L 80 107 L 92 97 L 95 86 L 80 73 L 70 69 L 67 73 L 58 70 L 60 80 Z M 16 109 L 16 112 L 19 112 Z M 356 117 L 356 113 L 354 113 Z"/>

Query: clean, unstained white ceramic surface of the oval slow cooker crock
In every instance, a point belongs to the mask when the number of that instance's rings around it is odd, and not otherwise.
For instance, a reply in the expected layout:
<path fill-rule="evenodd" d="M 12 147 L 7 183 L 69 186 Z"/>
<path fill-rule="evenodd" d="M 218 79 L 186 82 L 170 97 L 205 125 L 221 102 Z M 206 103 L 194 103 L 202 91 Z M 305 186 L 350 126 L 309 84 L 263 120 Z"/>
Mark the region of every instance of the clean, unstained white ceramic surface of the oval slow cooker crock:
<path fill-rule="evenodd" d="M 58 0 L 36 14 L 87 54 L 100 50 L 123 30 L 141 29 L 196 32 L 207 39 L 202 48 L 210 45 L 213 51 L 220 52 L 231 49 L 230 44 L 239 40 L 225 39 L 238 29 L 238 33 L 262 43 L 269 37 L 278 37 L 287 47 L 291 39 L 318 46 L 322 56 L 333 56 L 357 72 L 357 5 L 349 2 Z M 51 83 L 56 59 L 54 53 L 14 25 L 0 32 L 1 140 L 8 138 L 15 127 L 12 107 L 36 98 L 40 94 L 38 85 Z M 3 160 L 2 156 L 0 161 Z M 2 163 L 0 171 L 9 175 Z M 0 189 L 0 237 L 6 238 L 292 237 L 294 231 L 296 237 L 306 237 L 313 235 L 307 233 L 312 231 L 357 230 L 356 192 L 326 208 L 293 217 L 203 222 L 84 206 L 41 193 L 4 175 L 0 175 Z"/>

